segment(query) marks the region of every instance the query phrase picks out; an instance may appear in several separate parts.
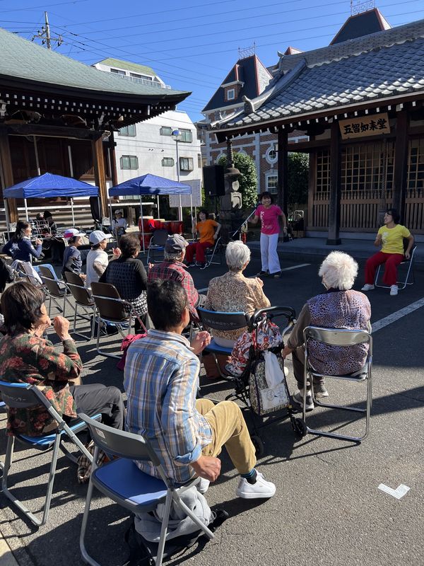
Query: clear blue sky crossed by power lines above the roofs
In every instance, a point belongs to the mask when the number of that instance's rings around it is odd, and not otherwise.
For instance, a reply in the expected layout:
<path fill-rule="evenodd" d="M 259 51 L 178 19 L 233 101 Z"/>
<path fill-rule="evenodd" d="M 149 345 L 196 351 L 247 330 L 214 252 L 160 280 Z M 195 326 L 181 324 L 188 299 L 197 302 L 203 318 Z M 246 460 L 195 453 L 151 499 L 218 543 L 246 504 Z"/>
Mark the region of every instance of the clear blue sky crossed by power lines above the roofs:
<path fill-rule="evenodd" d="M 357 2 L 354 1 L 354 4 Z M 392 26 L 424 18 L 423 0 L 376 0 Z M 252 47 L 269 66 L 288 45 L 324 47 L 351 14 L 349 0 L 0 0 L 1 27 L 31 39 L 49 13 L 55 49 L 93 64 L 115 57 L 153 67 L 167 83 L 191 91 L 179 105 L 192 120 L 228 71 L 239 48 Z M 39 40 L 36 40 L 39 42 Z"/>

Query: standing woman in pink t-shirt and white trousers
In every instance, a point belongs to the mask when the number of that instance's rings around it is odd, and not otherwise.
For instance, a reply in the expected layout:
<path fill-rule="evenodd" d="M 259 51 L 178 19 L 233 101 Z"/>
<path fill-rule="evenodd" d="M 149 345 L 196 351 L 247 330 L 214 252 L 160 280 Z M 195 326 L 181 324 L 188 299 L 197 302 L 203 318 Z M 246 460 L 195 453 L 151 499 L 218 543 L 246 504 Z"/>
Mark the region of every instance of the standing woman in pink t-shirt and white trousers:
<path fill-rule="evenodd" d="M 272 196 L 269 192 L 261 193 L 261 204 L 257 207 L 252 224 L 257 224 L 261 220 L 261 262 L 262 268 L 258 273 L 261 275 L 270 275 L 271 277 L 281 277 L 280 260 L 278 260 L 277 244 L 280 234 L 281 219 L 283 223 L 283 232 L 287 232 L 287 220 L 285 214 L 280 207 L 272 204 Z"/>

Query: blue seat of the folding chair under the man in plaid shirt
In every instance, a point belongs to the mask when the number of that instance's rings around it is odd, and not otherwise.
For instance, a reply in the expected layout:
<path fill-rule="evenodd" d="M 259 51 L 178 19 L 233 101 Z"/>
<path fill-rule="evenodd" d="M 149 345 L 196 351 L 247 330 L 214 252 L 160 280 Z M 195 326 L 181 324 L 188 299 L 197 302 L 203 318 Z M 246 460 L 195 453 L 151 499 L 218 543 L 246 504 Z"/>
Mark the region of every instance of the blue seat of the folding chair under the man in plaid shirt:
<path fill-rule="evenodd" d="M 119 458 L 97 468 L 92 479 L 100 491 L 103 487 L 110 495 L 126 499 L 126 503 L 134 506 L 151 507 L 166 497 L 165 483 L 142 472 L 127 458 Z"/>

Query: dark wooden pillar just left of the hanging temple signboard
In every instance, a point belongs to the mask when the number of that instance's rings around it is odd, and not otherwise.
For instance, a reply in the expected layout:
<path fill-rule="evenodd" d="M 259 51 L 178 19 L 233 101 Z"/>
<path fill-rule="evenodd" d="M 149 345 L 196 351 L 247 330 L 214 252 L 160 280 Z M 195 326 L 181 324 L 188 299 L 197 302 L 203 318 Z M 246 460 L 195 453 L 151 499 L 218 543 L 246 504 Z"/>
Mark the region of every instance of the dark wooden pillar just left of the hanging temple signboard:
<path fill-rule="evenodd" d="M 340 166 L 341 166 L 340 129 L 338 121 L 331 124 L 330 142 L 330 199 L 329 199 L 329 234 L 327 246 L 338 246 L 340 239 Z"/>

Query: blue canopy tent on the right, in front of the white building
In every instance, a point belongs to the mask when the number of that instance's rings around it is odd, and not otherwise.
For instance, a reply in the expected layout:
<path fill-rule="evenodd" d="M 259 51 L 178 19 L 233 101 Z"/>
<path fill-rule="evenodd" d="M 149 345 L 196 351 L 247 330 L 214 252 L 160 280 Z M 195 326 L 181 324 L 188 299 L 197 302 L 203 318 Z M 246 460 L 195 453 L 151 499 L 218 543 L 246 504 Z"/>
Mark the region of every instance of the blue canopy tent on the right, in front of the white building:
<path fill-rule="evenodd" d="M 190 195 L 191 197 L 192 187 L 179 183 L 179 181 L 147 173 L 146 175 L 141 175 L 141 177 L 135 177 L 134 179 L 124 181 L 124 183 L 119 183 L 119 185 L 109 190 L 110 197 L 124 195 L 139 195 L 140 197 L 141 236 L 143 238 L 144 252 L 146 248 L 144 246 L 143 203 L 141 202 L 141 197 L 143 195 L 157 195 L 158 197 L 160 195 Z M 181 200 L 179 206 L 181 208 Z"/>

